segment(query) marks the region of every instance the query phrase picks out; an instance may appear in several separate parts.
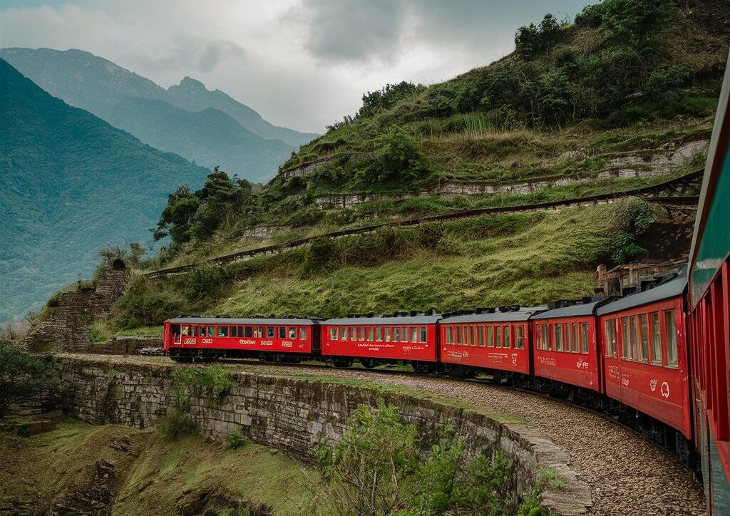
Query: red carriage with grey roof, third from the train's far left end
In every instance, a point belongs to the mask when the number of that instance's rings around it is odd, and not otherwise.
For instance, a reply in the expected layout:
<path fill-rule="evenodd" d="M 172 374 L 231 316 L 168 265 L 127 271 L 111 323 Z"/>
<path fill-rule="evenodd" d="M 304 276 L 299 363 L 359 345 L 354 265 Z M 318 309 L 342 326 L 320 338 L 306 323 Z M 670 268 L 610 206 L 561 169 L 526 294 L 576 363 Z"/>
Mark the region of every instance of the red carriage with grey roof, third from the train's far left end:
<path fill-rule="evenodd" d="M 547 307 L 502 307 L 444 317 L 439 322 L 441 361 L 454 377 L 477 370 L 530 374 L 529 318 Z"/>

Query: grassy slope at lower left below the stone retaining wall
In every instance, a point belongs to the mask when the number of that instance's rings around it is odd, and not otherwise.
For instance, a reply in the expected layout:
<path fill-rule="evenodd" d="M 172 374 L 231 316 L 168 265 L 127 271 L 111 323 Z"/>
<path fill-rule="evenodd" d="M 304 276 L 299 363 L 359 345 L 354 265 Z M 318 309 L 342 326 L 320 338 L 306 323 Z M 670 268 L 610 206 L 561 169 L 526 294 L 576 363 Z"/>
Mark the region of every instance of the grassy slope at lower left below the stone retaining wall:
<path fill-rule="evenodd" d="M 120 436 L 130 439 L 132 453 L 109 447 Z M 216 488 L 266 504 L 277 515 L 318 513 L 304 480 L 318 479 L 316 471 L 258 444 L 224 450 L 200 436 L 168 442 L 155 431 L 74 420 L 27 439 L 0 434 L 0 444 L 6 458 L 0 498 L 31 501 L 43 513 L 59 501 L 59 493 L 82 488 L 101 457 L 117 461 L 120 490 L 113 515 L 177 514 L 186 491 Z"/>

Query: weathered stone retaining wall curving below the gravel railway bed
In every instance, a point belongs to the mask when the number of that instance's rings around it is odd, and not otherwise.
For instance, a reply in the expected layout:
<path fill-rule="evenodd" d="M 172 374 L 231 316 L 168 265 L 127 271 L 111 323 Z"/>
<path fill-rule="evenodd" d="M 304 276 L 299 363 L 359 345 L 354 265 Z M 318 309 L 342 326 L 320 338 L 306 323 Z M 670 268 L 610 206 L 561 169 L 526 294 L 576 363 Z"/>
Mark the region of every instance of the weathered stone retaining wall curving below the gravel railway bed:
<path fill-rule="evenodd" d="M 62 375 L 69 392 L 66 412 L 93 424 L 153 427 L 174 407 L 171 370 L 169 366 L 120 366 L 66 358 Z M 499 447 L 515 463 L 512 485 L 518 493 L 534 487 L 539 469 L 556 469 L 567 480 L 566 487 L 543 493 L 555 514 L 585 514 L 591 506 L 590 489 L 567 466 L 569 456 L 528 426 L 500 423 L 417 396 L 239 372 L 234 374 L 234 388 L 222 398 L 191 393 L 191 415 L 204 436 L 222 439 L 240 429 L 254 442 L 312 463 L 320 439 L 341 439 L 356 407 L 373 405 L 377 398 L 399 407 L 422 436 L 434 439 L 439 428 L 450 425 L 465 439 L 469 453 Z"/>

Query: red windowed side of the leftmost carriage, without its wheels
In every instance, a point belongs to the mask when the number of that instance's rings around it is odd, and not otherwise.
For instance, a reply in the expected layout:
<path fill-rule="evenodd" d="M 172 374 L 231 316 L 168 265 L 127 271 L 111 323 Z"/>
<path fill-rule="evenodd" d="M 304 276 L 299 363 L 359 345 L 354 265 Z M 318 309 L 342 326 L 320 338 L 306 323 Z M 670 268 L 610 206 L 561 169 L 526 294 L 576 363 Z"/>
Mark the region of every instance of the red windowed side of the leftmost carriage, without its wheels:
<path fill-rule="evenodd" d="M 168 330 L 169 328 L 169 330 Z M 312 353 L 316 326 L 310 319 L 178 317 L 165 322 L 169 350 L 242 350 Z"/>

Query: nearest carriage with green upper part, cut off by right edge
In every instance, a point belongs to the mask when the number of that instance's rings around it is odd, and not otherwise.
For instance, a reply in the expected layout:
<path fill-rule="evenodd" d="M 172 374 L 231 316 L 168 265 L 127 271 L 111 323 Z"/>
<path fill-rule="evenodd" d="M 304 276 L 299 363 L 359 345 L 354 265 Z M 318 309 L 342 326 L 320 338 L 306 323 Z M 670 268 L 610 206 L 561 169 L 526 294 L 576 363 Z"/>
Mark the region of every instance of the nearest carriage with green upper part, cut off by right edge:
<path fill-rule="evenodd" d="M 690 253 L 695 444 L 710 514 L 730 514 L 730 59 Z"/>

